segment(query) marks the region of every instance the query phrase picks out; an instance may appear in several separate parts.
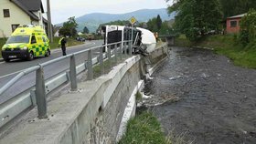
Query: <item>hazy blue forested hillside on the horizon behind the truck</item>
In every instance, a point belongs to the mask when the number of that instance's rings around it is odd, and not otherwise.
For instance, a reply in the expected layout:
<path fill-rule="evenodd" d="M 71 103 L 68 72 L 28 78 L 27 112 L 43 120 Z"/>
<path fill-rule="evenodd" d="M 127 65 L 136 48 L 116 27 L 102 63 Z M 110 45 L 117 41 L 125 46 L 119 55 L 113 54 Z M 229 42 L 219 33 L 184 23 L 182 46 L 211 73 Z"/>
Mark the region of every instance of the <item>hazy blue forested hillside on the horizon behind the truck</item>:
<path fill-rule="evenodd" d="M 134 16 L 139 22 L 147 22 L 149 19 L 160 15 L 162 20 L 174 19 L 174 15 L 168 15 L 165 8 L 162 9 L 142 9 L 126 14 L 103 14 L 92 13 L 88 15 L 82 15 L 76 18 L 79 24 L 78 30 L 82 31 L 84 26 L 87 26 L 90 32 L 95 32 L 100 24 L 108 23 L 116 20 L 129 20 Z M 59 26 L 59 25 L 58 25 Z"/>

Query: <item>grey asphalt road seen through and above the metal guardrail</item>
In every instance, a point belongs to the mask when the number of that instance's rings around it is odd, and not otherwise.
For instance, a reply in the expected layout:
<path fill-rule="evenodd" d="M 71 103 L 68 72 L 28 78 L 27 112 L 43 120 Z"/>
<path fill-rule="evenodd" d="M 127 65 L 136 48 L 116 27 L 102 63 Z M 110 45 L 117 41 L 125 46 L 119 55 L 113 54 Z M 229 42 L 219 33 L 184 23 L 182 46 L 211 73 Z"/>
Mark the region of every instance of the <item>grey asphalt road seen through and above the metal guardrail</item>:
<path fill-rule="evenodd" d="M 71 54 L 74 52 L 78 52 L 80 50 L 88 49 L 93 46 L 102 46 L 103 41 L 90 41 L 86 42 L 84 45 L 81 46 L 71 46 L 67 48 L 67 54 Z M 94 54 L 93 57 L 96 57 L 97 54 Z M 28 68 L 28 67 L 34 67 L 38 64 L 45 63 L 49 60 L 52 60 L 57 57 L 62 57 L 61 49 L 55 49 L 51 51 L 51 55 L 49 57 L 38 57 L 35 58 L 33 61 L 26 61 L 26 60 L 12 60 L 8 63 L 0 62 L 0 87 L 3 87 L 9 80 L 11 80 L 13 77 L 15 77 L 20 71 Z M 76 64 L 79 65 L 83 63 L 87 59 L 87 55 L 79 55 L 76 57 Z M 63 71 L 66 71 L 69 69 L 69 59 L 60 61 L 58 63 L 49 65 L 47 67 L 44 67 L 44 74 L 45 79 L 48 79 L 48 77 L 53 77 Z M 20 91 L 24 91 L 28 89 L 29 87 L 32 87 L 35 85 L 36 73 L 30 73 L 26 77 L 22 77 L 15 85 L 10 87 L 0 98 L 0 104 L 4 103 L 6 100 L 13 98 L 17 94 L 20 93 Z"/>

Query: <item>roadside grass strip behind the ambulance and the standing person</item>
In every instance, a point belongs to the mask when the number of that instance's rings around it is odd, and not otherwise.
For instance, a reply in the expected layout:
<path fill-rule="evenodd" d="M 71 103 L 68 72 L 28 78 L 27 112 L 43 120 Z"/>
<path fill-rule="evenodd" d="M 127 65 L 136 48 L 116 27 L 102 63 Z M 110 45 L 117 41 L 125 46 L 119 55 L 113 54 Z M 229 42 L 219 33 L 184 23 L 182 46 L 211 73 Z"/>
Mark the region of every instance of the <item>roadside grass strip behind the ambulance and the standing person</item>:
<path fill-rule="evenodd" d="M 49 44 L 51 49 L 59 48 L 59 38 L 60 37 L 54 37 L 53 38 L 53 42 Z M 0 38 L 0 57 L 2 57 L 2 54 L 1 54 L 2 46 L 5 45 L 6 40 L 7 40 L 6 38 Z M 74 38 L 68 38 L 67 46 L 78 46 L 78 45 L 81 45 L 81 44 L 83 44 L 83 43 L 75 40 Z"/>

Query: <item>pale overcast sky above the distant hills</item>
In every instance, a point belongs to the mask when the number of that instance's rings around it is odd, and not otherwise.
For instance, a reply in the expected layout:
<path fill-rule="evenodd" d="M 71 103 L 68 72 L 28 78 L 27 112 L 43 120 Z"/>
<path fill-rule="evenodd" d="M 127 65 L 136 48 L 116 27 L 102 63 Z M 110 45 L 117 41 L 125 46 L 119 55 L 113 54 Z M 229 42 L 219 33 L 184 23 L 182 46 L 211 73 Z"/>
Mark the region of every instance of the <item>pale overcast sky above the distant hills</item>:
<path fill-rule="evenodd" d="M 42 2 L 47 11 L 47 0 Z M 67 21 L 70 16 L 79 17 L 91 13 L 123 14 L 144 8 L 165 8 L 167 5 L 165 0 L 50 0 L 53 24 Z"/>

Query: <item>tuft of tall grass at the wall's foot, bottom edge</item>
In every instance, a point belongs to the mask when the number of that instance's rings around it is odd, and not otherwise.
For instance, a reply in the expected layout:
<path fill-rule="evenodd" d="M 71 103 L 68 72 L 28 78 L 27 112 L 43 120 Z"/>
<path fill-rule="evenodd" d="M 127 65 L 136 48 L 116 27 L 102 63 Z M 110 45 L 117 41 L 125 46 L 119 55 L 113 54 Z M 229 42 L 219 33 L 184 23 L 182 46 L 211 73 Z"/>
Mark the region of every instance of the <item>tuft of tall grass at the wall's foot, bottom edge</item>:
<path fill-rule="evenodd" d="M 165 137 L 153 113 L 143 111 L 128 121 L 126 133 L 118 144 L 187 144 L 185 136 L 186 133 L 176 136 L 172 130 Z"/>

